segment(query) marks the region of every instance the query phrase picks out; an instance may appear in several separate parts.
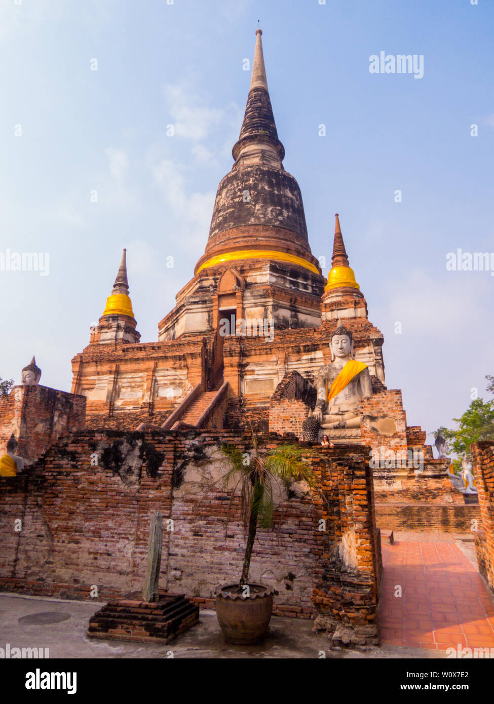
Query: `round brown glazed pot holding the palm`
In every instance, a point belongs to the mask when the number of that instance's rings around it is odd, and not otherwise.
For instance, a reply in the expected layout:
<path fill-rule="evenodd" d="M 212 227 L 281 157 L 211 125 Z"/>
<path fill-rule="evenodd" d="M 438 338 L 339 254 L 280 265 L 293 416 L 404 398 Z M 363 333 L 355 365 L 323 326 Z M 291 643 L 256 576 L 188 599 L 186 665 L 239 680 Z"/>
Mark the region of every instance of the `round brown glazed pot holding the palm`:
<path fill-rule="evenodd" d="M 225 584 L 216 593 L 216 616 L 227 643 L 259 643 L 273 612 L 271 587 L 249 584 L 250 595 L 237 593 L 238 584 Z"/>

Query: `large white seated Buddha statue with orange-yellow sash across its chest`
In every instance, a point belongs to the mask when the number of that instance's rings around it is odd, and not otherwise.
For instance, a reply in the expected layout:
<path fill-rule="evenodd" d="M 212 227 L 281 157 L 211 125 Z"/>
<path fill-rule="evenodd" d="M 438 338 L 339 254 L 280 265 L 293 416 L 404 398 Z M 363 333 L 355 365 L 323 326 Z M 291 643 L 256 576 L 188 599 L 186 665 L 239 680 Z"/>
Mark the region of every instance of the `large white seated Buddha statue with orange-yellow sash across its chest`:
<path fill-rule="evenodd" d="M 353 336 L 342 322 L 331 334 L 331 363 L 320 368 L 316 380 L 314 417 L 321 427 L 359 428 L 359 401 L 372 396 L 369 368 L 353 357 Z"/>

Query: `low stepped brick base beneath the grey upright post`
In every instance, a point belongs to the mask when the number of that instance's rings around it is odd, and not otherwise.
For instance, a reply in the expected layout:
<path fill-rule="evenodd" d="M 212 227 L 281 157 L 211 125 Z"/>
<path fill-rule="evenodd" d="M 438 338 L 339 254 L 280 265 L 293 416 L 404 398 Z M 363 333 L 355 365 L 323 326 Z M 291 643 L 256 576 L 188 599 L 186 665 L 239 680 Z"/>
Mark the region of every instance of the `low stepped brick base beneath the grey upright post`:
<path fill-rule="evenodd" d="M 159 601 L 109 601 L 89 620 L 92 638 L 170 643 L 199 623 L 199 607 L 183 594 L 160 594 Z"/>

